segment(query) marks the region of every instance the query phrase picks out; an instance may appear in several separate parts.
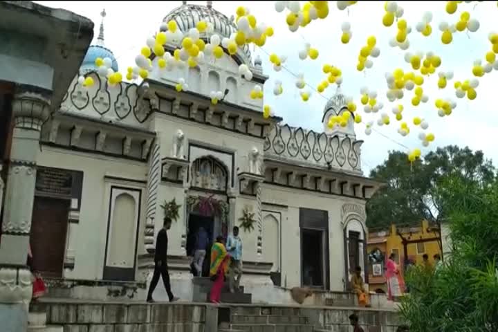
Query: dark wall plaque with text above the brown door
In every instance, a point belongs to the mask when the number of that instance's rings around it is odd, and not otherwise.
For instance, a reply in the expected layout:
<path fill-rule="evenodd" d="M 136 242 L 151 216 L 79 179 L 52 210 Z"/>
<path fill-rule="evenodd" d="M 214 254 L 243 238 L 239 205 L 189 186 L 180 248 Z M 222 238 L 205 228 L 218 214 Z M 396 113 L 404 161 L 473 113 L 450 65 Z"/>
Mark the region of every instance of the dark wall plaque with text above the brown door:
<path fill-rule="evenodd" d="M 37 194 L 71 197 L 72 187 L 73 172 L 51 167 L 37 168 Z"/>

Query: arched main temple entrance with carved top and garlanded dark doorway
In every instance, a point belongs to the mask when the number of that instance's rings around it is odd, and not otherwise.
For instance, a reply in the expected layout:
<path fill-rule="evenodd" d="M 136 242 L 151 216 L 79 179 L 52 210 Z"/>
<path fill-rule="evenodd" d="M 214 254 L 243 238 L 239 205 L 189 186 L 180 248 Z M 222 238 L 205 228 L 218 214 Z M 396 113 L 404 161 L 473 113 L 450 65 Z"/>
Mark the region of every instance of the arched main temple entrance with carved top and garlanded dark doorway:
<path fill-rule="evenodd" d="M 202 227 L 209 243 L 203 264 L 203 277 L 209 276 L 210 248 L 219 234 L 227 236 L 228 228 L 228 167 L 213 156 L 202 156 L 190 167 L 190 191 L 187 196 L 187 256 L 193 257 L 196 238 Z M 192 268 L 192 266 L 191 266 Z M 192 270 L 194 272 L 194 270 Z"/>

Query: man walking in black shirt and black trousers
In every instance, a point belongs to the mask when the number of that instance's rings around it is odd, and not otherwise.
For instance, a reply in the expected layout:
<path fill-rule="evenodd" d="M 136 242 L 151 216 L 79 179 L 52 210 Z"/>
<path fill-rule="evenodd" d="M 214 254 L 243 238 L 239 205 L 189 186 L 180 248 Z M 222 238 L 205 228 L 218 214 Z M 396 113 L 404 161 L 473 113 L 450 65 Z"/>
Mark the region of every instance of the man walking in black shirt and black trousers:
<path fill-rule="evenodd" d="M 151 284 L 149 286 L 149 293 L 147 294 L 147 302 L 154 302 L 152 293 L 156 289 L 159 281 L 159 276 L 163 277 L 163 283 L 169 297 L 169 302 L 176 301 L 178 297 L 174 297 L 169 284 L 169 273 L 167 268 L 167 230 L 171 228 L 171 219 L 165 218 L 163 228 L 158 232 L 156 239 L 156 254 L 154 255 L 154 275 L 152 276 Z"/>

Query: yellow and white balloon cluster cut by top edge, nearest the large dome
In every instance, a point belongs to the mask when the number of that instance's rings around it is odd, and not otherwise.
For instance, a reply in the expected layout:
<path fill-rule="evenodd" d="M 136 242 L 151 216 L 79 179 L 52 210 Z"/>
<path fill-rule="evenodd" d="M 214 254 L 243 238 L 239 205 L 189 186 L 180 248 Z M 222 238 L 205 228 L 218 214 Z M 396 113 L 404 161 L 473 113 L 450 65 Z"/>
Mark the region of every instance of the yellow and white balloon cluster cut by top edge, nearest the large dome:
<path fill-rule="evenodd" d="M 355 1 L 344 1 L 355 2 Z M 308 1 L 301 8 L 299 1 L 277 1 L 275 10 L 283 12 L 288 9 L 286 23 L 291 32 L 297 31 L 299 26 L 304 27 L 315 19 L 324 19 L 329 15 L 329 1 Z"/>

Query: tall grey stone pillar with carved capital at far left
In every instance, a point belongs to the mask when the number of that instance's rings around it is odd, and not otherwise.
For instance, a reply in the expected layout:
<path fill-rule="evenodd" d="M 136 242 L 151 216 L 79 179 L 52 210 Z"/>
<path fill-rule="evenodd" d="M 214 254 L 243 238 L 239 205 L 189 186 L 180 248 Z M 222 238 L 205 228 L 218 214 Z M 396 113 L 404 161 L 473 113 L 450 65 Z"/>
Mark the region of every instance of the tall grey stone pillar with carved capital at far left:
<path fill-rule="evenodd" d="M 12 149 L 7 176 L 0 246 L 0 306 L 16 311 L 32 295 L 31 273 L 26 266 L 35 196 L 36 157 L 42 124 L 50 101 L 38 93 L 18 93 L 12 100 Z M 27 319 L 27 305 L 26 319 Z M 0 310 L 1 311 L 1 310 Z M 17 311 L 19 313 L 19 311 Z M 20 331 L 20 330 L 19 330 Z"/>

